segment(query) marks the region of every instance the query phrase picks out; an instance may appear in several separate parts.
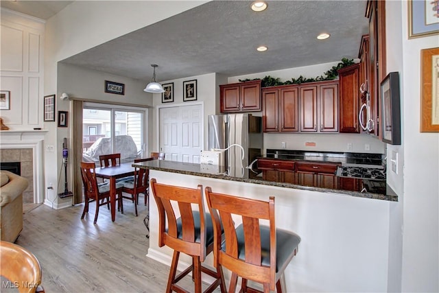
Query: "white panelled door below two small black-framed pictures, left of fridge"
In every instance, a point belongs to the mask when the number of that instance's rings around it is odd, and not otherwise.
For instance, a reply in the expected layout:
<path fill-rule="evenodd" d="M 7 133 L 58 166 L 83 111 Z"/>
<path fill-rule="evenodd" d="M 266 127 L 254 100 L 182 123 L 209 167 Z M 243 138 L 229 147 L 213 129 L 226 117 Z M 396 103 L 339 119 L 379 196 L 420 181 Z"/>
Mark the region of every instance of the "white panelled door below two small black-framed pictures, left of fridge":
<path fill-rule="evenodd" d="M 165 160 L 200 163 L 202 150 L 202 105 L 159 110 L 160 151 Z"/>

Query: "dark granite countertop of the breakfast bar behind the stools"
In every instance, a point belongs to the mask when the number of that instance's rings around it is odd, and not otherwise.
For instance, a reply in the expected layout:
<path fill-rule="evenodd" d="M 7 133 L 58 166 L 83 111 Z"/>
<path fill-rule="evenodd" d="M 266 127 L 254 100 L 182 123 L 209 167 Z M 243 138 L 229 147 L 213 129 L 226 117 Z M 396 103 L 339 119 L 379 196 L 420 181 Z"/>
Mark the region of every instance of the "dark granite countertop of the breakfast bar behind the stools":
<path fill-rule="evenodd" d="M 386 194 L 372 194 L 369 192 L 347 191 L 342 189 L 325 189 L 320 187 L 308 187 L 303 185 L 294 185 L 290 183 L 278 183 L 274 181 L 263 180 L 250 169 L 244 167 L 224 167 L 214 165 L 200 165 L 195 163 L 182 163 L 174 161 L 154 160 L 141 163 L 134 163 L 133 167 L 141 167 L 145 169 L 153 169 L 164 172 L 187 174 L 192 176 L 202 176 L 207 178 L 217 178 L 222 180 L 233 180 L 238 182 L 270 185 L 284 188 L 294 188 L 309 191 L 319 191 L 330 194 L 343 194 L 346 196 L 354 196 L 359 198 L 373 198 L 376 200 L 398 201 L 398 196 L 387 185 Z"/>

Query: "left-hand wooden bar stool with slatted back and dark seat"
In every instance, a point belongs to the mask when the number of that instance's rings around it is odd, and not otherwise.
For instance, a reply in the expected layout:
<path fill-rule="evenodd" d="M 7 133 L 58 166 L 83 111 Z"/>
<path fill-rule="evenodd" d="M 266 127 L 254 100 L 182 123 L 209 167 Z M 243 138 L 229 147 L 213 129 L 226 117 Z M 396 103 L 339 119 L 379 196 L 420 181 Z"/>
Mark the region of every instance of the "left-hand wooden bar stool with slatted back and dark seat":
<path fill-rule="evenodd" d="M 174 249 L 166 292 L 188 292 L 177 282 L 189 272 L 193 272 L 192 279 L 195 281 L 193 292 L 201 292 L 202 272 L 215 278 L 204 292 L 213 292 L 218 285 L 222 292 L 226 292 L 222 271 L 217 269 L 215 272 L 201 264 L 213 250 L 212 219 L 204 213 L 202 185 L 191 189 L 159 184 L 152 178 L 151 189 L 158 208 L 158 246 Z M 191 256 L 192 265 L 176 276 L 180 253 Z"/>

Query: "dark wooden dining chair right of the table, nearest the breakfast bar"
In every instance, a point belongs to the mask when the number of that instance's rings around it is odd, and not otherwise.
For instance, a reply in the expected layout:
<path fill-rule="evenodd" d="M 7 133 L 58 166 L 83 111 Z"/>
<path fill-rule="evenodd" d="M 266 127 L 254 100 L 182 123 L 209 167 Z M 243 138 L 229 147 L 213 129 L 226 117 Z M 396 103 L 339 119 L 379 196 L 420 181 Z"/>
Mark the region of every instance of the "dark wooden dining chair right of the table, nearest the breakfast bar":
<path fill-rule="evenodd" d="M 153 158 L 147 159 L 135 159 L 134 163 L 152 161 Z M 134 210 L 137 216 L 137 204 L 139 204 L 139 194 L 143 194 L 145 198 L 145 205 L 147 204 L 148 196 L 149 196 L 149 176 L 150 170 L 143 169 L 139 167 L 134 167 L 134 176 L 132 180 L 123 181 L 122 191 L 130 196 L 125 196 L 122 194 L 123 198 L 127 198 L 134 203 Z"/>

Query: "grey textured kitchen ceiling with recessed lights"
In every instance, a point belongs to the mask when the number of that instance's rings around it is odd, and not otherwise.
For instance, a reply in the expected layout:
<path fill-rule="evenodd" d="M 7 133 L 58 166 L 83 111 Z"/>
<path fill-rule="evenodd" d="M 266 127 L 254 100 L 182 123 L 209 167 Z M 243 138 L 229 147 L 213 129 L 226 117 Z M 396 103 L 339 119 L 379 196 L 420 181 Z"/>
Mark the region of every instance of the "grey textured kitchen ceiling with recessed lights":
<path fill-rule="evenodd" d="M 268 1 L 263 12 L 250 3 L 211 1 L 63 62 L 146 82 L 152 63 L 159 82 L 235 76 L 357 58 L 368 32 L 366 1 Z M 317 40 L 321 32 L 331 38 Z M 268 51 L 257 52 L 259 45 Z"/>

